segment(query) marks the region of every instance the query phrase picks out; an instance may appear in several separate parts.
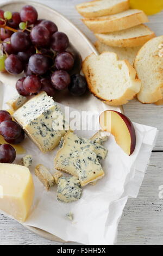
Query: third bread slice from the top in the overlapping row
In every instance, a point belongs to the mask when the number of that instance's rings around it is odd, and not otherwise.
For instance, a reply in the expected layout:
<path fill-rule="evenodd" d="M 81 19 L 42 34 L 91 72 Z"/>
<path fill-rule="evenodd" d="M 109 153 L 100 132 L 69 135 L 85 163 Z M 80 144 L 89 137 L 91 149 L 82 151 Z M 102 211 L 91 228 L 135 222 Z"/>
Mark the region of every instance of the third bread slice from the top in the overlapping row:
<path fill-rule="evenodd" d="M 141 46 L 155 36 L 154 32 L 143 24 L 122 31 L 105 34 L 96 33 L 95 35 L 99 41 L 114 47 Z"/>

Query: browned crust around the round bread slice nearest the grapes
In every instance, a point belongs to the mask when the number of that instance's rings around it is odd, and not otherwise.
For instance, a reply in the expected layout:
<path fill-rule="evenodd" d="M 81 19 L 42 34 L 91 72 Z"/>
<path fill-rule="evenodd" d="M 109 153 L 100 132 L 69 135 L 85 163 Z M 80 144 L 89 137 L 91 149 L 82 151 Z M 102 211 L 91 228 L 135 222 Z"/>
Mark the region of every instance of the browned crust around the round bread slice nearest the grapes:
<path fill-rule="evenodd" d="M 105 53 L 105 52 L 103 52 L 103 53 Z M 94 53 L 92 53 L 92 54 L 94 54 Z M 116 58 L 118 60 L 117 54 L 116 53 L 114 53 L 114 54 L 116 55 Z M 133 68 L 133 66 L 130 65 L 128 60 L 123 60 L 123 62 L 125 62 L 127 67 L 128 67 L 129 76 L 133 79 L 133 89 L 128 88 L 126 90 L 126 92 L 121 97 L 119 97 L 118 99 L 108 100 L 108 99 L 104 99 L 103 97 L 101 97 L 101 95 L 97 94 L 95 92 L 95 90 L 94 90 L 94 87 L 93 87 L 93 84 L 92 84 L 92 81 L 91 81 L 91 76 L 90 76 L 90 69 L 89 69 L 89 66 L 87 66 L 87 64 L 86 64 L 87 59 L 90 56 L 87 56 L 85 58 L 84 62 L 83 62 L 83 73 L 85 74 L 85 77 L 86 77 L 87 84 L 88 84 L 90 92 L 95 97 L 97 97 L 97 99 L 103 101 L 107 105 L 120 106 L 120 105 L 126 104 L 129 100 L 132 100 L 135 97 L 135 95 L 140 91 L 141 81 L 139 79 L 136 79 L 136 71 L 135 71 L 135 69 Z"/>

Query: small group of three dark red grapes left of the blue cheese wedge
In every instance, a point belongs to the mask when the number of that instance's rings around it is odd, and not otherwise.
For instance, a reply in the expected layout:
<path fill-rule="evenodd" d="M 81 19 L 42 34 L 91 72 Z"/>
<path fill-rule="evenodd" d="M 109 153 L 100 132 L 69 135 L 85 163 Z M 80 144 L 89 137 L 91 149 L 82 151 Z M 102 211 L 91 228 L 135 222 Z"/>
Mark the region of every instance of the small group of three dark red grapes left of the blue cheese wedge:
<path fill-rule="evenodd" d="M 0 111 L 0 133 L 9 144 L 0 144 L 0 163 L 12 163 L 16 157 L 16 151 L 10 144 L 21 143 L 24 139 L 24 131 L 20 125 L 12 120 L 8 111 Z"/>

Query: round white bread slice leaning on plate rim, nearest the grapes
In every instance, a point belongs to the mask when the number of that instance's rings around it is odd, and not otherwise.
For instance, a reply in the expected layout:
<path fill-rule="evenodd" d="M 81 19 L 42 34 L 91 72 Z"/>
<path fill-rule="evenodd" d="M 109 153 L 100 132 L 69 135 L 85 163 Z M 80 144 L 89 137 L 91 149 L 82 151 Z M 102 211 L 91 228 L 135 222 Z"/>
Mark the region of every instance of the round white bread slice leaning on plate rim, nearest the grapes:
<path fill-rule="evenodd" d="M 83 62 L 89 89 L 108 105 L 123 105 L 139 93 L 141 82 L 128 60 L 118 60 L 113 52 L 92 53 Z"/>

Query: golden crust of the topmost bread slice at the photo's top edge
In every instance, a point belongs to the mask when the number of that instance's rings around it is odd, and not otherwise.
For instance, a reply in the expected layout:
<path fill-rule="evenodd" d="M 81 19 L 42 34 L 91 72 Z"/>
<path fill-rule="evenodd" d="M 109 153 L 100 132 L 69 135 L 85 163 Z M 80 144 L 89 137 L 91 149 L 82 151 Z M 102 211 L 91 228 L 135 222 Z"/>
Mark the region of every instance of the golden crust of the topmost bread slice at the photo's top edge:
<path fill-rule="evenodd" d="M 95 2 L 101 1 L 101 0 L 93 0 L 90 1 L 90 6 L 91 4 L 93 5 Z M 76 9 L 80 15 L 86 18 L 92 18 L 92 17 L 99 17 L 99 16 L 105 16 L 105 15 L 111 15 L 111 14 L 117 14 L 121 13 L 122 11 L 128 10 L 129 9 L 129 0 L 124 0 L 121 3 L 115 4 L 114 6 L 107 8 L 107 9 L 101 9 L 98 11 L 90 11 L 85 12 L 83 11 L 84 8 L 87 7 L 88 2 L 84 2 L 82 4 L 77 4 Z M 86 4 L 86 5 L 85 5 Z"/>

